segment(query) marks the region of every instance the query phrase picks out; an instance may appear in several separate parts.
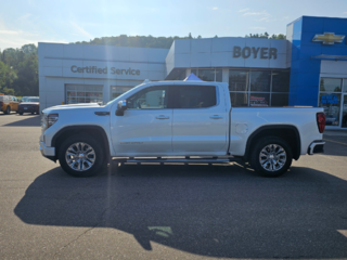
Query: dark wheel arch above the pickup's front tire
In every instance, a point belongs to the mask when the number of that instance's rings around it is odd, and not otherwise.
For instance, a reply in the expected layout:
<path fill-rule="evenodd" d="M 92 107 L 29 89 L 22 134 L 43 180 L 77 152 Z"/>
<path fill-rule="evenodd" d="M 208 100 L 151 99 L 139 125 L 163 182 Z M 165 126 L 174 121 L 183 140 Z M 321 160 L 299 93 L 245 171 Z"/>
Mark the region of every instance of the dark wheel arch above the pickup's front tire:
<path fill-rule="evenodd" d="M 55 147 L 55 159 L 57 158 L 60 146 L 64 142 L 64 140 L 74 134 L 81 133 L 86 133 L 98 139 L 99 142 L 102 143 L 103 150 L 107 158 L 111 157 L 108 138 L 105 130 L 100 126 L 82 125 L 65 127 L 54 134 L 54 136 L 52 138 L 51 146 Z"/>

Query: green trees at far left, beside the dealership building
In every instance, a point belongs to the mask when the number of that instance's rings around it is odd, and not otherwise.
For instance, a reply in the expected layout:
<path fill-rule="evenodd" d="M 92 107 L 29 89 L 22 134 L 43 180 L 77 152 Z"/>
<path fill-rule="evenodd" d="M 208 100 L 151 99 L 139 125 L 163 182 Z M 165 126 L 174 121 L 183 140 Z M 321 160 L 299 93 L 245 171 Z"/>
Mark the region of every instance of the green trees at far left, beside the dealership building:
<path fill-rule="evenodd" d="M 38 95 L 38 52 L 35 44 L 0 52 L 0 92 Z"/>

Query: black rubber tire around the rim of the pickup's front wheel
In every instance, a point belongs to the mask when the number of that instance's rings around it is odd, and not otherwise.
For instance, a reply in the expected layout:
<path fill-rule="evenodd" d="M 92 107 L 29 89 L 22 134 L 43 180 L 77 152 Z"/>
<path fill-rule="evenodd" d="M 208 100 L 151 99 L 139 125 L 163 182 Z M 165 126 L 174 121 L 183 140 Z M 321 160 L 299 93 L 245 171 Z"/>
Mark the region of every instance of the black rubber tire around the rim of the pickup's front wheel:
<path fill-rule="evenodd" d="M 94 164 L 88 170 L 82 170 L 82 171 L 74 170 L 72 167 L 68 166 L 65 158 L 65 153 L 67 152 L 68 147 L 79 142 L 88 144 L 94 150 L 94 153 L 95 153 Z M 59 161 L 61 164 L 61 167 L 66 173 L 73 177 L 92 177 L 103 172 L 105 169 L 105 162 L 106 162 L 104 155 L 105 155 L 105 152 L 102 145 L 98 142 L 98 140 L 93 139 L 88 134 L 73 135 L 67 140 L 65 140 L 59 148 Z"/>

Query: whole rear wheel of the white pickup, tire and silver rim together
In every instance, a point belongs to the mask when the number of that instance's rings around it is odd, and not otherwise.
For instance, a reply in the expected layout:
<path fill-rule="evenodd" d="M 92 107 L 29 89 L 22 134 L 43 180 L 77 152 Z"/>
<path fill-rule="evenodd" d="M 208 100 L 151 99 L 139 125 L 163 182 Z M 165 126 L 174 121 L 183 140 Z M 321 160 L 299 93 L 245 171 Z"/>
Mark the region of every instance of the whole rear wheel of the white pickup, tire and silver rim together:
<path fill-rule="evenodd" d="M 250 166 L 264 177 L 279 177 L 292 165 L 291 146 L 283 139 L 266 136 L 253 146 Z"/>

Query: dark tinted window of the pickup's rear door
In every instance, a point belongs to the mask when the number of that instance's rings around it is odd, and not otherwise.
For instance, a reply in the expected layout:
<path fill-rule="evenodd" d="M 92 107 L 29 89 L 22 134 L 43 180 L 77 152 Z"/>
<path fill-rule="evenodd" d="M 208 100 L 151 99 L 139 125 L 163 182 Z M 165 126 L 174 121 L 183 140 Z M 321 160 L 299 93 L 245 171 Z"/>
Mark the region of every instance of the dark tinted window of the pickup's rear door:
<path fill-rule="evenodd" d="M 174 108 L 203 108 L 217 104 L 215 86 L 177 86 L 176 91 Z"/>

